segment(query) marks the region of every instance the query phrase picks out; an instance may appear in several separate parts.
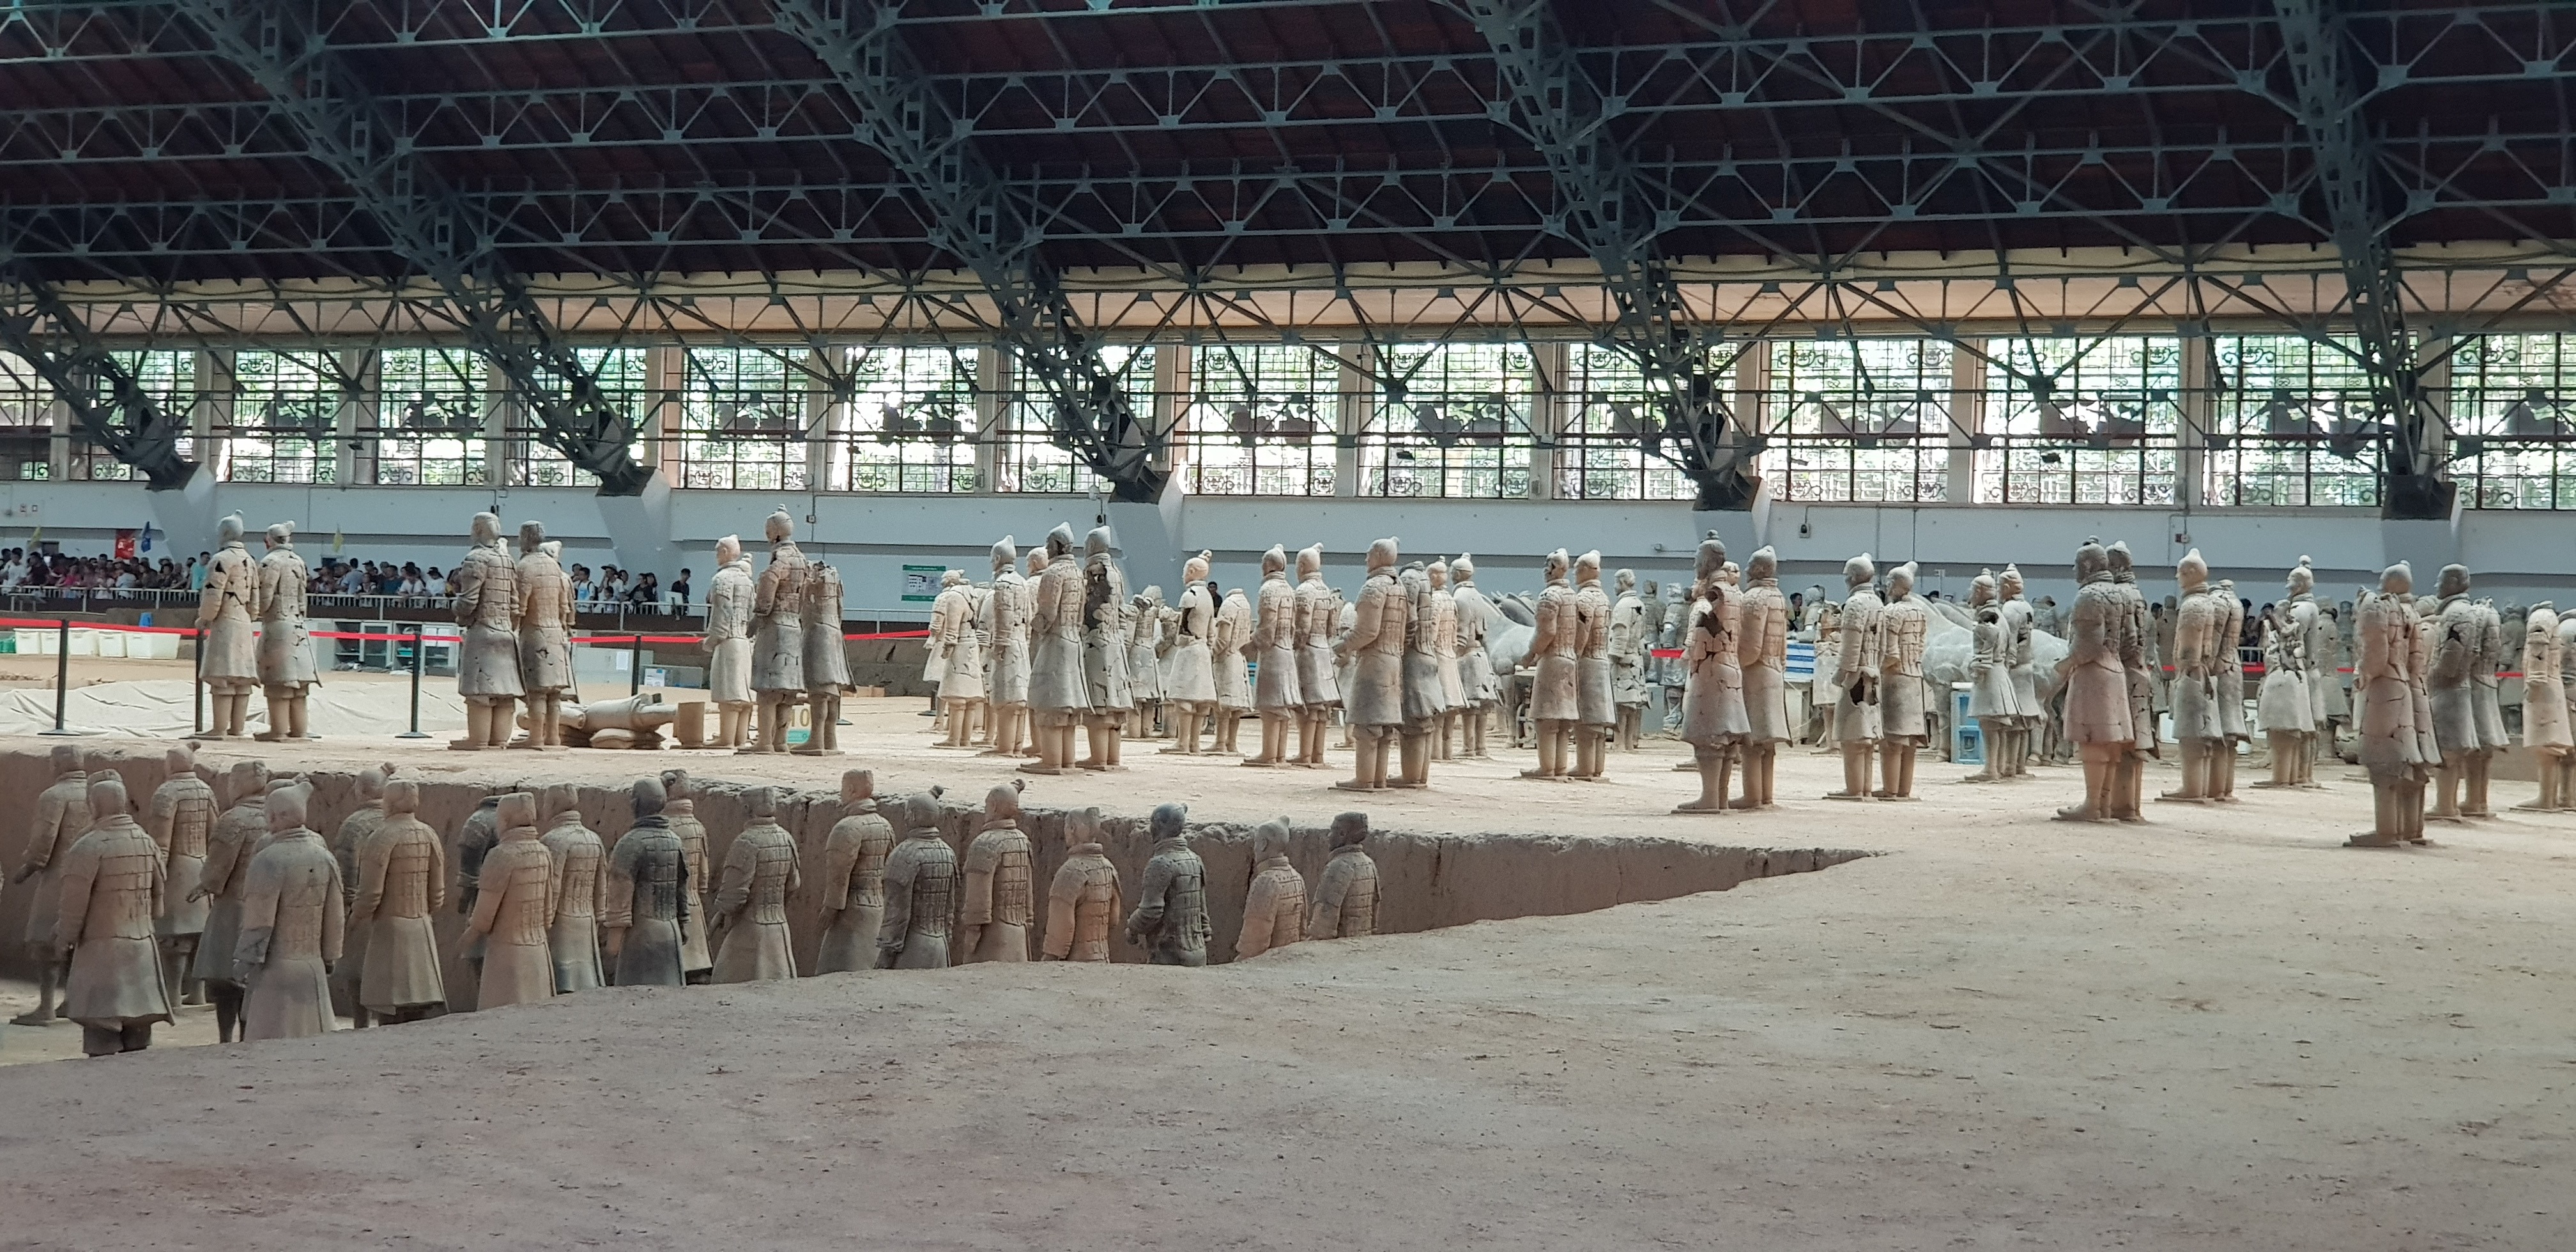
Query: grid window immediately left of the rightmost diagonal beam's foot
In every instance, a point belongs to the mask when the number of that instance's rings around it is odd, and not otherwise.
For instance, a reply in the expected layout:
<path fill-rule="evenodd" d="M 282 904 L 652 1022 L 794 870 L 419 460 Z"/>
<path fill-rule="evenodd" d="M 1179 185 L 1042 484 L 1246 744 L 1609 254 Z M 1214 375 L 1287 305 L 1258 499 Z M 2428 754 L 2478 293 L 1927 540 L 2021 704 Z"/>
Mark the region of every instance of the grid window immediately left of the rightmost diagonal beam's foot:
<path fill-rule="evenodd" d="M 2226 335 L 2210 350 L 2218 394 L 2205 502 L 2380 502 L 2385 425 L 2349 350 L 2298 335 Z"/>

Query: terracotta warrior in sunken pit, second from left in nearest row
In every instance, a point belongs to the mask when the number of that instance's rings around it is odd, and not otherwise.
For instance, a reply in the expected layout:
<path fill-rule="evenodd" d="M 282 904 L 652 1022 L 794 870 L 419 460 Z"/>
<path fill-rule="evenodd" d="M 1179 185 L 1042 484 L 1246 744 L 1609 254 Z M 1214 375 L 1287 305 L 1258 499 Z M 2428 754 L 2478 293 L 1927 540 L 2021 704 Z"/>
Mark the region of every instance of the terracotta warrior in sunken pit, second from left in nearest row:
<path fill-rule="evenodd" d="M 232 976 L 242 997 L 242 1038 L 304 1038 L 337 1028 L 330 1012 L 330 966 L 340 958 L 340 860 L 304 824 L 309 791 L 268 793 L 268 845 L 250 858 L 242 891 L 242 938 Z"/>

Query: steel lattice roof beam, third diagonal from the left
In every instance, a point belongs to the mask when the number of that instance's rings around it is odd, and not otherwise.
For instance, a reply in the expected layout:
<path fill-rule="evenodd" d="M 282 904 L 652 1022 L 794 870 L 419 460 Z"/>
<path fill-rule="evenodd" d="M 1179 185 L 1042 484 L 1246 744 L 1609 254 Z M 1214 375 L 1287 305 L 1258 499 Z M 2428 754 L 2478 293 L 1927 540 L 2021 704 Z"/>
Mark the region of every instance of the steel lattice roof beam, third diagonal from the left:
<path fill-rule="evenodd" d="M 974 149 L 974 124 L 953 116 L 894 28 L 896 5 L 778 0 L 778 28 L 801 39 L 858 103 L 858 139 L 878 149 L 920 196 L 930 242 L 958 258 L 997 312 L 1002 343 L 1048 397 L 1056 435 L 1121 500 L 1154 500 L 1146 422 L 1087 337 L 1056 273 L 1038 255 L 1043 227 Z"/>

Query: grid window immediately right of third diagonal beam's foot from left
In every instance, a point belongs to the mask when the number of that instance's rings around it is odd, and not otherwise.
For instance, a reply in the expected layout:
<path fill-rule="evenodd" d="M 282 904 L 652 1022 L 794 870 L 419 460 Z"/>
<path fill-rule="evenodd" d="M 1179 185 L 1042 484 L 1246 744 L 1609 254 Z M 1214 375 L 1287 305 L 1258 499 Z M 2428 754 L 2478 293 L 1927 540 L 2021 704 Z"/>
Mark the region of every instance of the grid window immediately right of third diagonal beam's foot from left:
<path fill-rule="evenodd" d="M 1340 389 L 1316 348 L 1200 345 L 1180 420 L 1190 495 L 1332 495 Z"/>

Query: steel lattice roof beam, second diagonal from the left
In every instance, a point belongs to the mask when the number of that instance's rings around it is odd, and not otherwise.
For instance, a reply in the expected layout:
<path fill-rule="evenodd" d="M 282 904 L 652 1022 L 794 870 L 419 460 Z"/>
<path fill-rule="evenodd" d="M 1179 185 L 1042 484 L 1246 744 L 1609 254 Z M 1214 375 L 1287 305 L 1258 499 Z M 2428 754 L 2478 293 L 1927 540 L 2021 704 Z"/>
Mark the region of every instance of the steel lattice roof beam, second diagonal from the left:
<path fill-rule="evenodd" d="M 520 278 L 500 263 L 497 222 L 466 206 L 404 147 L 358 75 L 294 0 L 191 0 L 214 46 L 294 121 L 309 155 L 340 178 L 392 252 L 438 283 L 459 330 L 536 417 L 536 438 L 600 477 L 600 495 L 652 479 L 629 453 L 634 420 L 556 335 Z"/>

